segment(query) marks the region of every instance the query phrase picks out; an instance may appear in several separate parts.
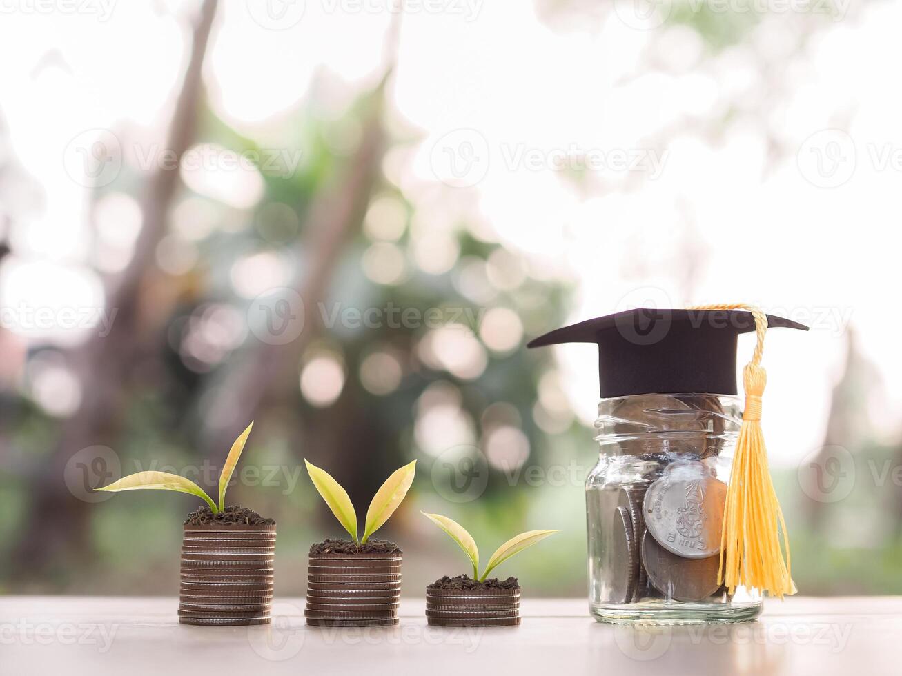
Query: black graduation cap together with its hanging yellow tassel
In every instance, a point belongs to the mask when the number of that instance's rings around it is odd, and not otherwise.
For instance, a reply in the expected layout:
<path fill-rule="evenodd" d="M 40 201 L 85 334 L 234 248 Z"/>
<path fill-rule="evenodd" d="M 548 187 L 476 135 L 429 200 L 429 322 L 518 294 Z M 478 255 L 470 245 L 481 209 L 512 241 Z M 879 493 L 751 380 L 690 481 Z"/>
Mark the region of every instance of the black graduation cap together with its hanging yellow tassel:
<path fill-rule="evenodd" d="M 770 478 L 760 425 L 761 396 L 767 384 L 761 355 L 769 327 L 808 330 L 804 324 L 765 315 L 745 304 L 684 310 L 640 308 L 565 326 L 536 338 L 528 347 L 597 343 L 602 397 L 694 392 L 734 395 L 736 339 L 740 333 L 754 331 L 755 352 L 742 370 L 745 406 L 723 508 L 718 579 L 731 593 L 746 587 L 783 598 L 796 593 L 796 585 L 789 567 L 786 524 Z"/>

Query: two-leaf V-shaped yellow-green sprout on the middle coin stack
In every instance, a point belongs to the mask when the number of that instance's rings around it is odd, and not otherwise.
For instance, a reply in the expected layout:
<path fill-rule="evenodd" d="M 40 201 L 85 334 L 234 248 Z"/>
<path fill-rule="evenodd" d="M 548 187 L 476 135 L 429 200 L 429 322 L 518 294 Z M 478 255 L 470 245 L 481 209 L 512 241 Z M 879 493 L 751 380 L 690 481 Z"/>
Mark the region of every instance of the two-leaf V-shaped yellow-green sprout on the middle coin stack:
<path fill-rule="evenodd" d="M 370 539 L 370 535 L 389 520 L 389 516 L 394 513 L 401 500 L 407 495 L 410 484 L 413 483 L 414 471 L 417 468 L 417 461 L 412 461 L 401 467 L 400 470 L 393 471 L 391 476 L 385 480 L 385 483 L 373 496 L 370 508 L 366 510 L 364 536 L 358 539 L 357 515 L 354 513 L 354 505 L 351 504 L 351 498 L 348 498 L 347 491 L 329 476 L 326 470 L 319 469 L 307 459 L 304 462 L 307 464 L 310 480 L 317 487 L 319 495 L 326 500 L 326 504 L 332 510 L 332 514 L 338 519 L 338 523 L 345 527 L 345 530 L 351 534 L 356 544 L 364 544 Z"/>

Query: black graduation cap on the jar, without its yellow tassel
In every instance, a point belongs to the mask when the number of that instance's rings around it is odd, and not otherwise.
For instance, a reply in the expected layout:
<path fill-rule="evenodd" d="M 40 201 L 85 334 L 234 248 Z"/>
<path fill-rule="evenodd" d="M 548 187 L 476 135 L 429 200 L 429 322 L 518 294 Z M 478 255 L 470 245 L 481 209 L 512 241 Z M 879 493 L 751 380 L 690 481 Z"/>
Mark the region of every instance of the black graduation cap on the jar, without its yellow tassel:
<path fill-rule="evenodd" d="M 807 331 L 774 315 L 768 326 Z M 704 392 L 735 395 L 736 336 L 755 330 L 750 312 L 637 308 L 571 324 L 528 347 L 598 343 L 602 397 Z"/>

